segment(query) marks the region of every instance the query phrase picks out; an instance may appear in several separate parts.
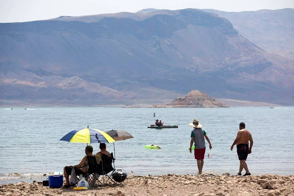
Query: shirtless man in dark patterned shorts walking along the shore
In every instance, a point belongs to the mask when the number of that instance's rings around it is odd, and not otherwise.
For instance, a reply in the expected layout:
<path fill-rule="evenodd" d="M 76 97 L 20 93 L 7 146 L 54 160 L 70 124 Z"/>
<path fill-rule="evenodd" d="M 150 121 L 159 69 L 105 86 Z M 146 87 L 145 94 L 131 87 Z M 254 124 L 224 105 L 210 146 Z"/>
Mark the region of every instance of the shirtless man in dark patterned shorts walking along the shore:
<path fill-rule="evenodd" d="M 252 139 L 251 133 L 245 129 L 245 123 L 240 123 L 239 129 L 240 130 L 238 130 L 237 137 L 231 146 L 231 150 L 233 151 L 234 145 L 237 144 L 237 154 L 240 160 L 238 175 L 242 175 L 241 172 L 244 168 L 246 173 L 243 176 L 249 176 L 251 174 L 248 170 L 246 159 L 248 154 L 251 153 L 251 149 L 253 146 L 253 139 Z M 249 148 L 249 141 L 250 141 L 250 148 Z"/>

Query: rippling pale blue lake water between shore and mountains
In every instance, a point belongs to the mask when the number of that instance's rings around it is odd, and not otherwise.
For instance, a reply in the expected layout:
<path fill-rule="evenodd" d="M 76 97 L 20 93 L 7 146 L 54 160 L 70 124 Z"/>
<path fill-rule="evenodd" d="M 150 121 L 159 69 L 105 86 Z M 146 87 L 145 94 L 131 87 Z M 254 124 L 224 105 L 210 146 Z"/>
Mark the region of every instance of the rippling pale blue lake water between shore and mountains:
<path fill-rule="evenodd" d="M 196 160 L 188 150 L 193 130 L 188 123 L 194 118 L 199 119 L 213 146 L 212 150 L 206 149 L 206 155 L 210 153 L 211 157 L 204 160 L 204 172 L 238 172 L 236 148 L 232 152 L 230 146 L 239 123 L 245 122 L 254 140 L 247 159 L 251 174 L 294 174 L 294 107 L 29 109 L 0 108 L 0 183 L 30 181 L 46 171 L 63 171 L 65 165 L 78 164 L 86 144 L 59 139 L 87 125 L 103 131 L 126 130 L 133 135 L 133 139 L 115 143 L 116 169 L 136 175 L 197 174 Z M 179 128 L 148 129 L 157 118 Z M 147 150 L 144 146 L 148 144 L 162 149 Z M 106 145 L 112 152 L 113 144 Z M 99 144 L 92 146 L 94 152 L 99 151 Z"/>

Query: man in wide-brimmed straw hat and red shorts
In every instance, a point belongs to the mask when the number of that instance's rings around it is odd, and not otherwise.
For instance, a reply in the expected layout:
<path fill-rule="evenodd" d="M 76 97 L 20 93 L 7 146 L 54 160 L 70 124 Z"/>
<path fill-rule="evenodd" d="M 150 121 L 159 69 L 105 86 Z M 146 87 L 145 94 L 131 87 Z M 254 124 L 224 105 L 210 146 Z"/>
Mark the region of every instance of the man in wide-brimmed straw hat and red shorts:
<path fill-rule="evenodd" d="M 206 135 L 206 132 L 204 129 L 202 129 L 202 125 L 199 123 L 197 119 L 193 120 L 193 123 L 189 123 L 189 126 L 194 127 L 194 130 L 191 132 L 191 142 L 190 142 L 190 153 L 192 153 L 192 145 L 195 143 L 195 149 L 194 149 L 194 156 L 195 159 L 197 160 L 197 166 L 198 166 L 198 171 L 199 174 L 202 173 L 202 168 L 204 164 L 204 155 L 205 155 L 205 140 L 209 143 L 209 149 L 212 148 L 211 143 L 209 141 L 209 138 Z"/>

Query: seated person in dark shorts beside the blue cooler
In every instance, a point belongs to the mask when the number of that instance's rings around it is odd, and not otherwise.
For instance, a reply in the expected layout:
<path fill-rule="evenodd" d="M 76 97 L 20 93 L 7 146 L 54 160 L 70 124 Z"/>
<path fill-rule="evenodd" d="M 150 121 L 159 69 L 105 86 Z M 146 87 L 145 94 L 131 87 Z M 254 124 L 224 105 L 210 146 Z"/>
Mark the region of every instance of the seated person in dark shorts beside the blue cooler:
<path fill-rule="evenodd" d="M 85 149 L 85 153 L 86 153 L 86 156 L 83 157 L 83 159 L 81 160 L 81 163 L 75 166 L 65 166 L 63 168 L 63 173 L 66 180 L 64 188 L 71 187 L 71 185 L 69 184 L 69 176 L 71 175 L 71 170 L 73 167 L 76 172 L 76 175 L 83 175 L 83 177 L 86 175 L 86 172 L 87 172 L 86 160 L 95 159 L 95 156 L 93 155 L 92 146 L 87 146 Z"/>

